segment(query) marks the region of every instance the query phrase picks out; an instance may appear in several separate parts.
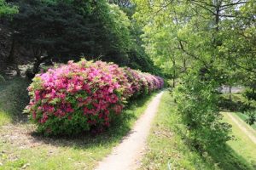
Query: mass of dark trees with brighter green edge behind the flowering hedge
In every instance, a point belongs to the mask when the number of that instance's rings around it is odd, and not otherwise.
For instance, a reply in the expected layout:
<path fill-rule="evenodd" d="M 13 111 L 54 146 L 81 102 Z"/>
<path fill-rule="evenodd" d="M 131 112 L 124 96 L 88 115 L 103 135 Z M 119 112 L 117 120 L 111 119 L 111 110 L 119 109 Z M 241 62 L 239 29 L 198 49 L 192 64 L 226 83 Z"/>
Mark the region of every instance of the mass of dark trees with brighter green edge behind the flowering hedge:
<path fill-rule="evenodd" d="M 19 44 L 32 51 L 33 74 L 45 59 L 66 62 L 87 59 L 113 61 L 154 72 L 154 63 L 139 47 L 131 19 L 117 5 L 100 1 L 9 0 L 19 13 L 9 20 L 12 48 Z M 5 3 L 7 4 L 7 3 Z"/>

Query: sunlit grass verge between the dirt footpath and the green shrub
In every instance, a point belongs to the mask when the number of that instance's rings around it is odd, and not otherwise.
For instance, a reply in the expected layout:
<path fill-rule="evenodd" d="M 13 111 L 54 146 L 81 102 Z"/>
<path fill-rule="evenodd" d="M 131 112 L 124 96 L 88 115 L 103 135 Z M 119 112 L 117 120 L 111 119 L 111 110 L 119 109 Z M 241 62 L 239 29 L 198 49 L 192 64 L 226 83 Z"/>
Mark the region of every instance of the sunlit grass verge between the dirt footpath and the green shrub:
<path fill-rule="evenodd" d="M 168 163 L 175 169 L 207 169 L 201 156 L 189 150 L 181 136 L 175 133 L 179 120 L 174 110 L 172 97 L 166 92 L 148 137 L 142 169 L 167 169 Z"/>

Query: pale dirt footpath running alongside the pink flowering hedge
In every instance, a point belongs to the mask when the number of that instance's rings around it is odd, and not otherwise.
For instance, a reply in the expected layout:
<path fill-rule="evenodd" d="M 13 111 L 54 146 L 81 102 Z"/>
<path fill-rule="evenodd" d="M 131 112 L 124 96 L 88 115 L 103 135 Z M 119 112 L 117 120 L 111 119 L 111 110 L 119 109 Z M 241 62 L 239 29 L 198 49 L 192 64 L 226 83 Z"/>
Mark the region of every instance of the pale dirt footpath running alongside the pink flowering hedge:
<path fill-rule="evenodd" d="M 96 170 L 133 170 L 140 166 L 140 158 L 145 149 L 150 125 L 157 112 L 162 94 L 163 92 L 154 97 L 131 132 L 113 149 L 109 156 L 99 163 Z"/>

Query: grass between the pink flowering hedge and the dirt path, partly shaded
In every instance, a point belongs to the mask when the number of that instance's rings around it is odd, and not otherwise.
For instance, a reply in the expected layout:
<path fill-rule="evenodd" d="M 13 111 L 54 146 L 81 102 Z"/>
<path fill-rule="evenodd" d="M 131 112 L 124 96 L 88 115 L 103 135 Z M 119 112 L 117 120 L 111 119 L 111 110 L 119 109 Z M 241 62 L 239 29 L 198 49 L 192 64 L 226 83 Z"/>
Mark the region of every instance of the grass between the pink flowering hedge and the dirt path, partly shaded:
<path fill-rule="evenodd" d="M 0 169 L 93 169 L 129 132 L 155 94 L 131 101 L 119 120 L 107 132 L 95 137 L 85 135 L 77 139 L 53 139 L 34 136 L 42 144 L 22 148 L 15 143 L 3 141 L 0 133 L 0 150 L 3 150 L 0 152 L 0 162 L 3 164 Z"/>

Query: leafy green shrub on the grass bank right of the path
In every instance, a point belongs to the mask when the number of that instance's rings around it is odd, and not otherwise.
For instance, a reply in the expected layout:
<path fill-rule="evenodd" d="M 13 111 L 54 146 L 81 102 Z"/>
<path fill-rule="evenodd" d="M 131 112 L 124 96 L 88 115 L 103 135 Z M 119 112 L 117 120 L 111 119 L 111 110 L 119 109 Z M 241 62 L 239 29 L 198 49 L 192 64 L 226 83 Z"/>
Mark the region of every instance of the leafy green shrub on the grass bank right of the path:
<path fill-rule="evenodd" d="M 211 74 L 205 75 L 205 81 L 200 72 L 189 71 L 174 90 L 177 113 L 188 129 L 185 136 L 189 144 L 201 151 L 208 147 L 221 147 L 230 139 L 230 126 L 220 122 L 222 116 L 218 112 L 216 90 L 218 83 L 211 77 Z"/>

